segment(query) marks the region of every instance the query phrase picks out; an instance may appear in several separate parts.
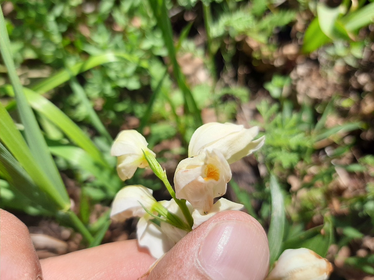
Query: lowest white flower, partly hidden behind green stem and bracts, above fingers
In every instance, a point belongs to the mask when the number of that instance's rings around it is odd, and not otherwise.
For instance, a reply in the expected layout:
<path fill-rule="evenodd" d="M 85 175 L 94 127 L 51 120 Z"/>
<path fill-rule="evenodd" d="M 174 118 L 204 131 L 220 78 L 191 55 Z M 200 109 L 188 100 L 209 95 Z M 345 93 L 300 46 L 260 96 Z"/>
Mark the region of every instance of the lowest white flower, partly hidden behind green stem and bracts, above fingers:
<path fill-rule="evenodd" d="M 184 220 L 183 213 L 174 199 L 159 201 L 169 212 L 177 215 Z M 192 211 L 192 206 L 187 203 Z M 171 224 L 160 222 L 160 226 L 151 221 L 152 217 L 145 214 L 137 224 L 137 235 L 139 245 L 147 247 L 154 258 L 160 258 L 168 252 L 179 240 L 186 236 L 187 231 L 174 227 Z"/>

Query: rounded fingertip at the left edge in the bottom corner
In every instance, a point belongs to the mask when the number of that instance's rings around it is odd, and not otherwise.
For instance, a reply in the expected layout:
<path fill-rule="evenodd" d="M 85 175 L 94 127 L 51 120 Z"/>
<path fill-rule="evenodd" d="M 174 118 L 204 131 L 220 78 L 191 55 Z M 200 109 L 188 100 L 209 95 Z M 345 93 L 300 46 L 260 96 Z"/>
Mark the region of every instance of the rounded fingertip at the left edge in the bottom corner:
<path fill-rule="evenodd" d="M 0 209 L 1 280 L 42 279 L 42 270 L 24 223 Z"/>

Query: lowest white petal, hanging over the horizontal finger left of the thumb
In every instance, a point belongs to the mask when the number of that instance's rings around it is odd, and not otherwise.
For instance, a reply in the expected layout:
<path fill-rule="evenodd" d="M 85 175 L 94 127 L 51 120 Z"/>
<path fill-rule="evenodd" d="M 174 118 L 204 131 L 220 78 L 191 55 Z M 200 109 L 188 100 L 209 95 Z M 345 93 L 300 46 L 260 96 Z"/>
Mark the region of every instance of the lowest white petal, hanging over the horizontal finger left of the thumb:
<path fill-rule="evenodd" d="M 138 243 L 148 248 L 154 258 L 160 258 L 168 252 L 175 243 L 161 231 L 161 228 L 150 220 L 141 217 L 137 224 Z"/>

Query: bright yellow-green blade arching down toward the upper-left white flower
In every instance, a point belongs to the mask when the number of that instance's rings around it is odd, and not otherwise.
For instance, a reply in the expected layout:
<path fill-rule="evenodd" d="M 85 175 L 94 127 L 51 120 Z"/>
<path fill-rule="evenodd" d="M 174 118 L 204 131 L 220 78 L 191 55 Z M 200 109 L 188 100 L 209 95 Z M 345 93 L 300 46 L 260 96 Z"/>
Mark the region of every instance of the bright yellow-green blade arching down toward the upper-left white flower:
<path fill-rule="evenodd" d="M 13 90 L 10 86 L 4 87 L 9 96 L 13 96 Z M 34 110 L 45 116 L 49 121 L 56 125 L 63 131 L 71 141 L 77 146 L 85 150 L 94 161 L 98 162 L 104 167 L 108 167 L 108 163 L 103 159 L 99 149 L 92 143 L 91 139 L 73 122 L 64 112 L 62 112 L 56 105 L 46 99 L 44 96 L 24 88 L 24 93 L 27 101 Z"/>

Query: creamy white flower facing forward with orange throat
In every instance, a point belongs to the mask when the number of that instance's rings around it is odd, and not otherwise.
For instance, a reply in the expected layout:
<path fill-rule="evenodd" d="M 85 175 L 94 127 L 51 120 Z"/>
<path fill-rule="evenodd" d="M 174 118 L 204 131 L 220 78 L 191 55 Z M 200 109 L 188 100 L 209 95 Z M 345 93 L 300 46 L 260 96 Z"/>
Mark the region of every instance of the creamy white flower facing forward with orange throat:
<path fill-rule="evenodd" d="M 230 179 L 230 166 L 219 151 L 200 150 L 197 156 L 178 164 L 174 174 L 175 196 L 206 212 L 212 208 L 214 197 L 226 193 Z"/>

